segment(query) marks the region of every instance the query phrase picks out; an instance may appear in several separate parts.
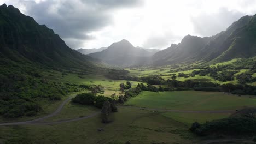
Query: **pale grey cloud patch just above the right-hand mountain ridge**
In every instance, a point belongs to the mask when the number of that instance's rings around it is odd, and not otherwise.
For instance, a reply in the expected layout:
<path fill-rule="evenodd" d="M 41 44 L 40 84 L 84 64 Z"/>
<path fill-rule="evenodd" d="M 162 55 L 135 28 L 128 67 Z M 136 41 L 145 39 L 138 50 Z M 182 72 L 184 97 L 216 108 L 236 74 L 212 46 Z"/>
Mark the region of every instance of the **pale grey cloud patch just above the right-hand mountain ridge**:
<path fill-rule="evenodd" d="M 245 14 L 221 8 L 216 14 L 201 13 L 197 17 L 191 17 L 191 22 L 196 33 L 202 36 L 211 36 L 225 31 L 226 28 L 242 16 L 245 16 Z"/>

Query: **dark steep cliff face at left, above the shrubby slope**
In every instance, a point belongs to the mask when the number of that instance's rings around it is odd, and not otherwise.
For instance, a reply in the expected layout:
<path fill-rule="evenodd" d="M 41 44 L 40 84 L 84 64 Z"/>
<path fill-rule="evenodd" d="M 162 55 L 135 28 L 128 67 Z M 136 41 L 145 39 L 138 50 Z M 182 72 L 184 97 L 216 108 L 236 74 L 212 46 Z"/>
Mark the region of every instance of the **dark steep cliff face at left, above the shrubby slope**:
<path fill-rule="evenodd" d="M 12 5 L 0 7 L 0 55 L 11 61 L 31 61 L 60 67 L 92 67 L 92 58 L 70 49 L 45 25 Z"/>

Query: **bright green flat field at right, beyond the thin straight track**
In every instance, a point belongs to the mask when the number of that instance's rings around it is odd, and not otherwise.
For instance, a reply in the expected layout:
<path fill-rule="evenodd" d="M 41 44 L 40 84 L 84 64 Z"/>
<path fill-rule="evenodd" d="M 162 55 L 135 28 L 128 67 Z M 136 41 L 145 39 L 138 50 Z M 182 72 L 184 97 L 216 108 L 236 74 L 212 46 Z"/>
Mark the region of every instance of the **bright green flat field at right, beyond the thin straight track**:
<path fill-rule="evenodd" d="M 256 97 L 223 94 L 222 92 L 144 91 L 126 105 L 172 110 L 236 110 L 256 106 Z"/>

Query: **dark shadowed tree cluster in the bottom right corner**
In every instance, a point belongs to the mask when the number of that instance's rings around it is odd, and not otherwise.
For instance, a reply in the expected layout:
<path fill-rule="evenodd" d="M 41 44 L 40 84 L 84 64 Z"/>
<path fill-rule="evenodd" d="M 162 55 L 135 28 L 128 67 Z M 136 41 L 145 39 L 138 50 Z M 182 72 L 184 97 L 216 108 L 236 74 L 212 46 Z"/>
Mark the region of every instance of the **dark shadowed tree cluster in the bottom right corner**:
<path fill-rule="evenodd" d="M 211 134 L 254 135 L 256 134 L 255 113 L 231 116 L 203 124 L 194 122 L 190 130 L 199 136 Z"/>

